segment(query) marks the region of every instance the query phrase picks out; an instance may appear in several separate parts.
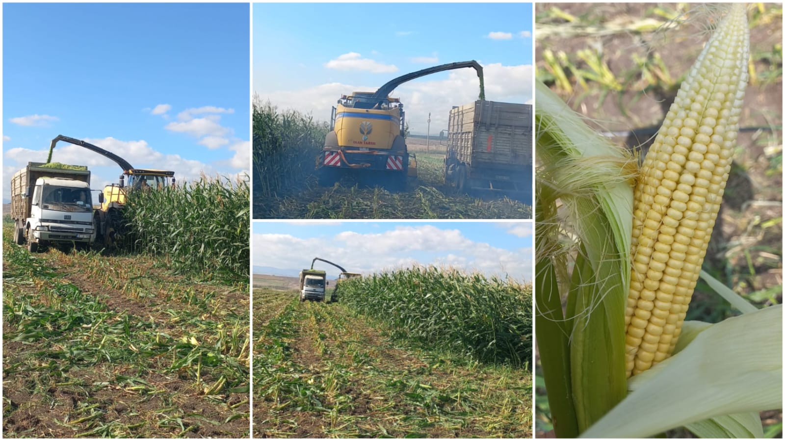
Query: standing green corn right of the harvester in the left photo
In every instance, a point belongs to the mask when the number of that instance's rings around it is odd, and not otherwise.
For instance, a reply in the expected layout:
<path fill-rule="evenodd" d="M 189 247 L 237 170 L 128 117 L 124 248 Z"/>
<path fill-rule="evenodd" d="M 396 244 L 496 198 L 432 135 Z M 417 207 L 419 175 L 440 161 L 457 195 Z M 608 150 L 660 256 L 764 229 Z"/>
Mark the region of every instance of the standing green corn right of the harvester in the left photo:
<path fill-rule="evenodd" d="M 166 257 L 176 272 L 247 282 L 247 180 L 202 177 L 160 191 L 134 191 L 124 217 L 134 250 Z"/>

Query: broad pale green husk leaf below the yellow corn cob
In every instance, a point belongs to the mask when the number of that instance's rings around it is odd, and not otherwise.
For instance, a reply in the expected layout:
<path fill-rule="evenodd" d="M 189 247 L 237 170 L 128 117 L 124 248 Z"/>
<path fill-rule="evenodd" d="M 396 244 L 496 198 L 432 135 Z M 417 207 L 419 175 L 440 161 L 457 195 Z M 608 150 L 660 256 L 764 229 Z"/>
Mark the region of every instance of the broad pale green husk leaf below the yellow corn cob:
<path fill-rule="evenodd" d="M 713 417 L 780 409 L 782 320 L 780 304 L 707 327 L 678 354 L 630 378 L 631 393 L 582 436 L 642 438 Z"/>

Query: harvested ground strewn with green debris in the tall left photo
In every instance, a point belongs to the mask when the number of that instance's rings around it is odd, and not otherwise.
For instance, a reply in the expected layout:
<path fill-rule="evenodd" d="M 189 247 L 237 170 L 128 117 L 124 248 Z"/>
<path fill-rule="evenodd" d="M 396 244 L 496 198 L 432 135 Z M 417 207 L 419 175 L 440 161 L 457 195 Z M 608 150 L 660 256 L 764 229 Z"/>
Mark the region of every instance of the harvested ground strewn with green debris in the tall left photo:
<path fill-rule="evenodd" d="M 247 339 L 247 292 L 147 257 L 27 256 L 4 243 L 4 437 L 247 436 L 247 366 L 244 377 L 229 366 Z M 197 352 L 199 367 L 186 360 Z"/>

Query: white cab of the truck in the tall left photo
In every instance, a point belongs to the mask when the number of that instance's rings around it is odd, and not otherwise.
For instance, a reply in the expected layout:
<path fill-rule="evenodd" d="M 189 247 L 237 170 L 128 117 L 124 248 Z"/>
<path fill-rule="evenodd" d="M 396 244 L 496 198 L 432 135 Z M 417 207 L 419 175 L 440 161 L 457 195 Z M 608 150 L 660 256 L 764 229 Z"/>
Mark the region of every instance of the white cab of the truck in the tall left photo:
<path fill-rule="evenodd" d="M 24 235 L 31 251 L 55 242 L 88 246 L 95 239 L 93 201 L 88 183 L 39 177 L 32 188 L 30 204 Z"/>

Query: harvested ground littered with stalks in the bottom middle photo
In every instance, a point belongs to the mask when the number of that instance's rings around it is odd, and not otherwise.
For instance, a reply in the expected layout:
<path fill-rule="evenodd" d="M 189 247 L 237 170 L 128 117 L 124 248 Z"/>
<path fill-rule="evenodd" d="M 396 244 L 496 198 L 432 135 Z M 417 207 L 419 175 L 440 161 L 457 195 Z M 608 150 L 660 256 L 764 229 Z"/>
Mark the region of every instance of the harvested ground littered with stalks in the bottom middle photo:
<path fill-rule="evenodd" d="M 528 370 L 409 348 L 296 296 L 254 290 L 255 437 L 531 437 Z"/>

